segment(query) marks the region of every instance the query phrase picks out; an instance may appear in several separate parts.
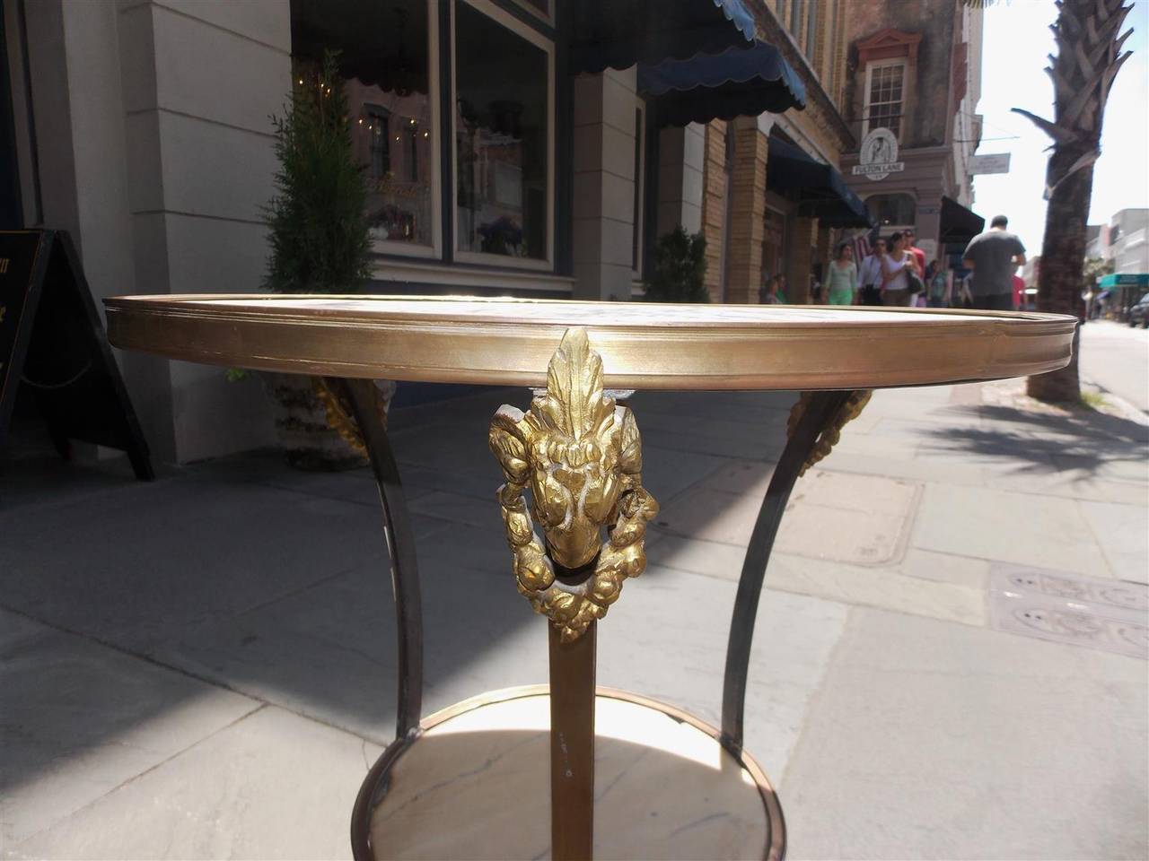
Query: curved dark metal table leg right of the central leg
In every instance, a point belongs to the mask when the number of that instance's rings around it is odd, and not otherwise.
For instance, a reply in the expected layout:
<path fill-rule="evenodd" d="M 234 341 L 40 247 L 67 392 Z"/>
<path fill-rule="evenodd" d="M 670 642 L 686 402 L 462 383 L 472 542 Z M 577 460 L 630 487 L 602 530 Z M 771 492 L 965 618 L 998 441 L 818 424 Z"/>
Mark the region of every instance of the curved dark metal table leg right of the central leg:
<path fill-rule="evenodd" d="M 742 575 L 738 581 L 738 596 L 734 599 L 726 647 L 726 675 L 723 680 L 722 740 L 733 753 L 742 750 L 746 677 L 750 665 L 754 622 L 758 613 L 758 596 L 762 594 L 766 563 L 770 561 L 770 551 L 786 511 L 786 502 L 823 433 L 841 420 L 845 408 L 854 397 L 857 397 L 855 391 L 815 391 L 809 395 L 797 425 L 791 428 L 789 440 L 770 478 L 765 499 L 754 523 L 746 560 L 742 563 Z"/>

